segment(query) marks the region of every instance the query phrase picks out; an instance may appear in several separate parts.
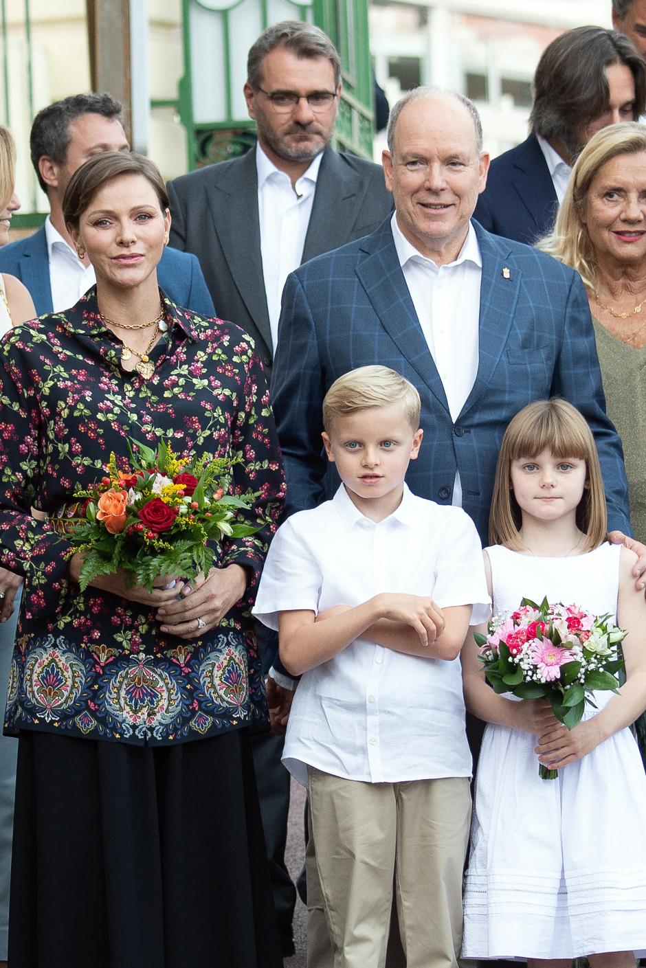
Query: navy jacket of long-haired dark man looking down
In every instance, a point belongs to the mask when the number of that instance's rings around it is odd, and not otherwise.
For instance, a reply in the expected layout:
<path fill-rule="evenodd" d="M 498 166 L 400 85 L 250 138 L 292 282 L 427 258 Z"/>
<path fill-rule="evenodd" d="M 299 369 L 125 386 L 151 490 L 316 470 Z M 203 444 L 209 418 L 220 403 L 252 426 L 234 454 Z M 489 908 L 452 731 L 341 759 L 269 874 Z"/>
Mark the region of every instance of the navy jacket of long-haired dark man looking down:
<path fill-rule="evenodd" d="M 489 232 L 534 245 L 554 224 L 559 201 L 537 137 L 494 158 L 474 218 Z"/>

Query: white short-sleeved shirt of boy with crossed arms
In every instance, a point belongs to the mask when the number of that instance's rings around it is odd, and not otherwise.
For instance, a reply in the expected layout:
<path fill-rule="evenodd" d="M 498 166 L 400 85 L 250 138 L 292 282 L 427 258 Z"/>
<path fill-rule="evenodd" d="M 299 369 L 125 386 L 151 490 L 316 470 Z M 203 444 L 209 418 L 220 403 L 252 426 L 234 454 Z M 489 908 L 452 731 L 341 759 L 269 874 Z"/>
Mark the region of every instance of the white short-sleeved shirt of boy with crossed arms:
<path fill-rule="evenodd" d="M 429 595 L 441 607 L 489 614 L 482 552 L 458 507 L 404 489 L 384 521 L 366 518 L 342 485 L 334 499 L 292 515 L 277 531 L 254 614 L 359 605 L 381 591 Z M 406 655 L 367 639 L 306 672 L 296 689 L 283 761 L 303 785 L 308 765 L 335 776 L 394 783 L 469 776 L 460 660 Z"/>

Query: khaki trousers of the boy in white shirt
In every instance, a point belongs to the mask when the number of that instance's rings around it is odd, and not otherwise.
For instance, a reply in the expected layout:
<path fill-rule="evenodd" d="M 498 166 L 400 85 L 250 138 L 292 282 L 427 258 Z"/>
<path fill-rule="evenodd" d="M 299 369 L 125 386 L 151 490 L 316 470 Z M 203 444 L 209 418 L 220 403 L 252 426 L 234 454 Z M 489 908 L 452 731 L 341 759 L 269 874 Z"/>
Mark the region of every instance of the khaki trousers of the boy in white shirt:
<path fill-rule="evenodd" d="M 385 968 L 393 878 L 407 968 L 457 968 L 469 779 L 363 783 L 312 767 L 308 776 L 306 866 L 316 860 L 333 968 Z M 308 870 L 315 918 L 316 880 Z M 318 933 L 308 968 L 318 966 Z"/>

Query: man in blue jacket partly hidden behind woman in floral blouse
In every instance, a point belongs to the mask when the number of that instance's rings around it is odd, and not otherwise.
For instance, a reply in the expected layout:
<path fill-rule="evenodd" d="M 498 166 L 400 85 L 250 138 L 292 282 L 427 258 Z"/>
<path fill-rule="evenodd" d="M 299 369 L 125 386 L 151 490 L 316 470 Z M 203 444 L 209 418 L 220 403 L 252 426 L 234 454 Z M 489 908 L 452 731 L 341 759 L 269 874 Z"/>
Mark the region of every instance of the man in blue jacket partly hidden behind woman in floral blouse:
<path fill-rule="evenodd" d="M 78 257 L 65 227 L 63 196 L 74 172 L 92 155 L 130 151 L 121 122 L 122 106 L 108 94 L 73 95 L 43 108 L 34 119 L 31 160 L 50 212 L 45 226 L 0 250 L 0 272 L 27 287 L 39 316 L 69 309 L 94 285 L 94 269 L 86 256 Z M 158 278 L 174 303 L 215 316 L 195 256 L 165 249 Z"/>

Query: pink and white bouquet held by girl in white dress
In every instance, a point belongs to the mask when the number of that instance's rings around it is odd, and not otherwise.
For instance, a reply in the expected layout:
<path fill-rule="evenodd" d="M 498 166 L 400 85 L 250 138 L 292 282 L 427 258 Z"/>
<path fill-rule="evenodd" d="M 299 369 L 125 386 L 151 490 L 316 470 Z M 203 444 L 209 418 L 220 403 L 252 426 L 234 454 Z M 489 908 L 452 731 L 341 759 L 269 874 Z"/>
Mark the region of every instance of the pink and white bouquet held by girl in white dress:
<path fill-rule="evenodd" d="M 592 692 L 617 691 L 624 666 L 617 647 L 626 632 L 609 618 L 523 598 L 510 616 L 490 620 L 488 635 L 475 634 L 484 675 L 495 692 L 548 700 L 559 722 L 573 729 L 586 703 L 595 706 Z M 542 764 L 538 772 L 543 779 L 558 775 Z"/>

